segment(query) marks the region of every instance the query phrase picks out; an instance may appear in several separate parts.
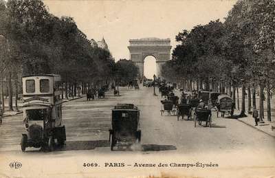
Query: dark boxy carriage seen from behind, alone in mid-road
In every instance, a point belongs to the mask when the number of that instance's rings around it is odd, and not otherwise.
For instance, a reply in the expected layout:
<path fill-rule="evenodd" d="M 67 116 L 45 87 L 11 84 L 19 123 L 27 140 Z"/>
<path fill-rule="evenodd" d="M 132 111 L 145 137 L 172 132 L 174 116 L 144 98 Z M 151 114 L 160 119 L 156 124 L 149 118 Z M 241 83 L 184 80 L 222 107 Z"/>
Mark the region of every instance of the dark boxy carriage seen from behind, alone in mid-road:
<path fill-rule="evenodd" d="M 114 147 L 140 143 L 140 140 L 140 110 L 133 104 L 117 104 L 112 109 L 112 129 L 109 130 L 111 151 Z"/>

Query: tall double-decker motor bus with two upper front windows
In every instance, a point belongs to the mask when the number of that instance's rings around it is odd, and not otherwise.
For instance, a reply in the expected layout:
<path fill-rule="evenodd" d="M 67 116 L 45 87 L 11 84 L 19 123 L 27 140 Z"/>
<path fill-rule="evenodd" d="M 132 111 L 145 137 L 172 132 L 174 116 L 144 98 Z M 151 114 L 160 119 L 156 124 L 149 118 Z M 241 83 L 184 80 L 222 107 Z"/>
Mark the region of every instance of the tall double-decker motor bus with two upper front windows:
<path fill-rule="evenodd" d="M 59 75 L 23 76 L 23 123 L 27 133 L 22 134 L 21 150 L 27 147 L 53 151 L 66 140 L 62 124 L 61 81 Z"/>

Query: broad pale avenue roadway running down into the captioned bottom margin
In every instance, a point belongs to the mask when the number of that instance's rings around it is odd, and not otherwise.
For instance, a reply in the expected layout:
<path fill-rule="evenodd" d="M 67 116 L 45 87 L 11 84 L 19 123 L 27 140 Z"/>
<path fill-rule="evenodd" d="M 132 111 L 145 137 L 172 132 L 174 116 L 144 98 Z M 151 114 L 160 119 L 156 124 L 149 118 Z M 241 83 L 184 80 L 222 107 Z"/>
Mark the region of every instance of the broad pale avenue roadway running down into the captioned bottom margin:
<path fill-rule="evenodd" d="M 161 116 L 160 96 L 153 96 L 153 88 L 122 88 L 120 93 L 102 100 L 65 102 L 66 146 L 52 153 L 39 148 L 22 153 L 22 114 L 4 118 L 0 177 L 275 176 L 274 137 L 238 120 L 217 118 L 214 111 L 212 128 L 195 128 L 192 120 L 177 121 L 166 113 Z M 133 103 L 140 109 L 142 141 L 133 151 L 110 151 L 111 109 L 117 103 Z M 14 170 L 10 162 L 22 167 Z"/>

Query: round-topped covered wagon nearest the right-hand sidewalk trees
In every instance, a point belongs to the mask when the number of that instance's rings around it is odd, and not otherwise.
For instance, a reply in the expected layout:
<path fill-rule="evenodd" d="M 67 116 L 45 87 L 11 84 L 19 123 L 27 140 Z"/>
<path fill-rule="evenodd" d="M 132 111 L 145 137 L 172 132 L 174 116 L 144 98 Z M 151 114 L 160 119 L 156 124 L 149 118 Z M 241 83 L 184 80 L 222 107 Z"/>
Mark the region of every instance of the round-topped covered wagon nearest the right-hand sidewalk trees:
<path fill-rule="evenodd" d="M 231 116 L 234 113 L 233 100 L 230 96 L 222 94 L 218 97 L 217 101 L 217 117 L 219 117 L 219 112 L 221 112 L 221 117 L 224 117 L 225 113 L 229 113 Z"/>

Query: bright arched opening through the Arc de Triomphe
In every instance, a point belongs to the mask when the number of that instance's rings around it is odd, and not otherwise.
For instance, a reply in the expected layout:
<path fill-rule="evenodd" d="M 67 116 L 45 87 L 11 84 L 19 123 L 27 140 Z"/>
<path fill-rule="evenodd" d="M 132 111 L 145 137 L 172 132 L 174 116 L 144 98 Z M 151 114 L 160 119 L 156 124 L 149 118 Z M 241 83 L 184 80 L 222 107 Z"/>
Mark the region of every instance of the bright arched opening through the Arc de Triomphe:
<path fill-rule="evenodd" d="M 144 76 L 148 79 L 153 79 L 157 76 L 157 60 L 154 56 L 146 56 L 144 58 Z"/>

